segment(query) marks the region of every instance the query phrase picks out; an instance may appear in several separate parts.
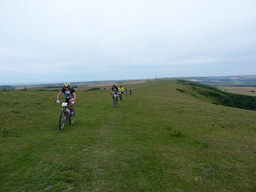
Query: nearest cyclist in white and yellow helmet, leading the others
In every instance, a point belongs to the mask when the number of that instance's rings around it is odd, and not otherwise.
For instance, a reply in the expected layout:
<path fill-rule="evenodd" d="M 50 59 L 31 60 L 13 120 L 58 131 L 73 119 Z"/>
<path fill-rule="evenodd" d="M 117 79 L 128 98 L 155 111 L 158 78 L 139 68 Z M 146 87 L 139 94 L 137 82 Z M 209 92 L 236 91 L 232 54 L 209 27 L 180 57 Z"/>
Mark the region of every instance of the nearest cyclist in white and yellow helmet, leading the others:
<path fill-rule="evenodd" d="M 57 103 L 60 103 L 60 95 L 64 93 L 66 96 L 65 102 L 70 102 L 71 103 L 71 109 L 75 111 L 74 109 L 74 104 L 76 101 L 76 92 L 73 87 L 70 87 L 70 83 L 66 82 L 63 84 L 63 88 L 60 90 L 59 94 L 57 95 Z"/>

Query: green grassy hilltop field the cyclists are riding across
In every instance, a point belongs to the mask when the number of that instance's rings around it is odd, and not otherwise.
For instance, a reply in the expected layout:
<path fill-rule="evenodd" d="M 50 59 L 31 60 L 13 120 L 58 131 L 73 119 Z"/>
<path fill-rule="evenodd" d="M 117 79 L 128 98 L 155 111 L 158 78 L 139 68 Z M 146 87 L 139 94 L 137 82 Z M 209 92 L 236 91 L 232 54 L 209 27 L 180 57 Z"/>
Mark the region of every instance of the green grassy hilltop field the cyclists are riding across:
<path fill-rule="evenodd" d="M 256 111 L 172 79 L 125 87 L 116 108 L 108 89 L 77 91 L 62 131 L 58 92 L 1 91 L 0 191 L 256 191 Z"/>

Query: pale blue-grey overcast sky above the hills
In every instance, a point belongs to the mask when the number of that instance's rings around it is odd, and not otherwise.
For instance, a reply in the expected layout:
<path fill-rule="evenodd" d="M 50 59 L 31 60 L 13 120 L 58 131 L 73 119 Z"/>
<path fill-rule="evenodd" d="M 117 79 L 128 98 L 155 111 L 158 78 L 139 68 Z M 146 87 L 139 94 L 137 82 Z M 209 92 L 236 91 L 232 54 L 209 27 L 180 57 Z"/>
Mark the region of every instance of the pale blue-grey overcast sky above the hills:
<path fill-rule="evenodd" d="M 0 85 L 256 75 L 255 0 L 0 0 Z"/>

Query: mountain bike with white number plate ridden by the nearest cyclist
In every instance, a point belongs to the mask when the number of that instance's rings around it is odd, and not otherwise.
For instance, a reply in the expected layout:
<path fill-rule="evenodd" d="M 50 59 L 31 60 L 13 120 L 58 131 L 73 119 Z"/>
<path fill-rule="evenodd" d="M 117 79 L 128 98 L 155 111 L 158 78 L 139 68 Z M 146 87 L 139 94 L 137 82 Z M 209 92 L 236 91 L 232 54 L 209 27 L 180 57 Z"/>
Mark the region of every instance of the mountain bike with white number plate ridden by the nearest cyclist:
<path fill-rule="evenodd" d="M 60 102 L 60 104 L 62 110 L 60 112 L 59 128 L 63 130 L 65 123 L 69 121 L 70 124 L 73 124 L 75 122 L 75 110 L 71 109 L 70 102 Z"/>

